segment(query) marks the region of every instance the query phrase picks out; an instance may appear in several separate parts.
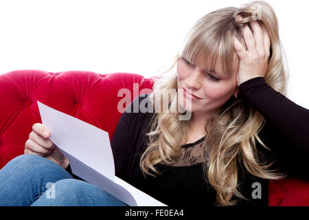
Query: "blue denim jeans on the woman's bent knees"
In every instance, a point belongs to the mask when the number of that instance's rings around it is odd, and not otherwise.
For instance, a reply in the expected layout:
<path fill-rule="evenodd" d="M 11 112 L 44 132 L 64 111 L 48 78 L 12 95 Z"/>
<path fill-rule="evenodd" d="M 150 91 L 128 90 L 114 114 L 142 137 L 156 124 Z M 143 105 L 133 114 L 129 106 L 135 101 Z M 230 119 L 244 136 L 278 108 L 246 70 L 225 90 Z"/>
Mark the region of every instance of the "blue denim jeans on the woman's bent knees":
<path fill-rule="evenodd" d="M 58 164 L 20 155 L 0 170 L 0 206 L 128 206 Z"/>

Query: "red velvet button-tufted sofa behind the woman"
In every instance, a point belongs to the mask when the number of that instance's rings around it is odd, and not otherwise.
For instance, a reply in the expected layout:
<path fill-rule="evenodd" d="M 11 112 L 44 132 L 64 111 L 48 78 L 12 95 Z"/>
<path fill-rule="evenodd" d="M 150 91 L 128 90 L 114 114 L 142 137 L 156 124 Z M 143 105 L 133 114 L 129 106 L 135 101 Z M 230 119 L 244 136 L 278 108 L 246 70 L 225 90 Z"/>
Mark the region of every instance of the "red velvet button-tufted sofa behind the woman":
<path fill-rule="evenodd" d="M 140 92 L 150 93 L 152 78 L 140 84 L 142 79 L 139 74 L 82 71 L 19 70 L 0 75 L 0 168 L 23 154 L 32 125 L 41 122 L 36 100 L 108 131 L 111 140 L 122 115 L 117 103 L 123 97 L 117 92 L 128 89 L 131 100 Z M 268 195 L 269 206 L 309 206 L 309 183 L 295 178 L 269 181 Z"/>

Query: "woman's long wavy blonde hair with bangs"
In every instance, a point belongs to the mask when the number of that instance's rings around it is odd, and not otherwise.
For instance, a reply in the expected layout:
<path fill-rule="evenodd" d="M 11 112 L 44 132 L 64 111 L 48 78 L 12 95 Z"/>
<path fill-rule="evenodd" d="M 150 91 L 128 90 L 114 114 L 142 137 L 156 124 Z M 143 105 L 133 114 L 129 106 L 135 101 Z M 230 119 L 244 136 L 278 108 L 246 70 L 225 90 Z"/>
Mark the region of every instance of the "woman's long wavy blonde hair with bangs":
<path fill-rule="evenodd" d="M 259 14 L 260 13 L 260 14 Z M 240 14 L 244 19 L 235 21 Z M 279 39 L 279 27 L 275 11 L 265 1 L 251 1 L 240 8 L 222 8 L 206 14 L 199 19 L 187 34 L 182 50 L 174 57 L 172 66 L 163 74 L 155 76 L 153 91 L 149 94 L 153 107 L 168 103 L 168 108 L 175 108 L 178 104 L 177 93 L 163 96 L 156 100 L 156 94 L 162 94 L 165 89 L 177 89 L 177 76 L 174 66 L 181 57 L 200 67 L 215 69 L 219 58 L 222 61 L 223 72 L 231 74 L 231 63 L 236 55 L 230 33 L 241 41 L 240 29 L 246 23 L 260 16 L 271 38 L 271 55 L 268 59 L 265 81 L 276 91 L 286 95 L 288 68 L 282 43 Z M 238 60 L 239 61 L 239 60 Z M 168 102 L 166 102 L 168 101 Z M 160 103 L 159 103 L 160 102 Z M 148 147 L 141 155 L 140 168 L 147 175 L 161 175 L 155 168 L 156 164 L 164 162 L 173 164 L 181 155 L 181 146 L 187 141 L 191 120 L 179 120 L 179 113 L 155 112 L 149 124 Z M 262 130 L 266 120 L 246 100 L 233 99 L 217 109 L 207 120 L 203 141 L 203 154 L 207 153 L 207 162 L 203 162 L 205 180 L 216 190 L 216 206 L 233 206 L 236 199 L 245 198 L 238 190 L 238 172 L 242 162 L 247 172 L 263 179 L 281 179 L 284 173 L 271 170 L 274 161 L 268 162 L 255 145 L 257 140 L 267 151 L 271 151 L 258 133 Z M 209 126 L 210 125 L 210 126 Z"/>

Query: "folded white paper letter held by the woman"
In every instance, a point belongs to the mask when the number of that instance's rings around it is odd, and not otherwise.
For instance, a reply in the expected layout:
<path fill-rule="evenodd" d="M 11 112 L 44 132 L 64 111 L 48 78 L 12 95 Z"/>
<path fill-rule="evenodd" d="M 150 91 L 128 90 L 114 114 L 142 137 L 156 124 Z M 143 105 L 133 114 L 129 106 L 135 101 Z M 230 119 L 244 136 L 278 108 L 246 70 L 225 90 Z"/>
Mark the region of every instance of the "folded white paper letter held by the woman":
<path fill-rule="evenodd" d="M 38 101 L 37 101 L 38 102 Z M 98 186 L 129 206 L 166 206 L 115 176 L 108 133 L 38 102 L 49 140 L 69 159 L 72 173 Z"/>

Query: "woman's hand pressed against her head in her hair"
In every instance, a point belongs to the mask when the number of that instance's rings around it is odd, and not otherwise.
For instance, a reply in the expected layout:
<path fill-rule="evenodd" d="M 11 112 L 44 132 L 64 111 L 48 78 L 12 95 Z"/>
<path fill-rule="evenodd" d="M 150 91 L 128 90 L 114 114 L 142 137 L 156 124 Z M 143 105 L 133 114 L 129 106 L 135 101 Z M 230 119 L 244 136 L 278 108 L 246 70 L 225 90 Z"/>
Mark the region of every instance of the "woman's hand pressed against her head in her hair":
<path fill-rule="evenodd" d="M 240 19 L 240 15 L 236 19 Z M 242 36 L 246 48 L 234 36 L 234 48 L 239 58 L 239 68 L 237 75 L 237 86 L 250 80 L 251 78 L 264 77 L 270 55 L 271 41 L 269 34 L 263 23 L 251 21 L 250 26 L 253 33 L 246 24 L 242 28 Z"/>

